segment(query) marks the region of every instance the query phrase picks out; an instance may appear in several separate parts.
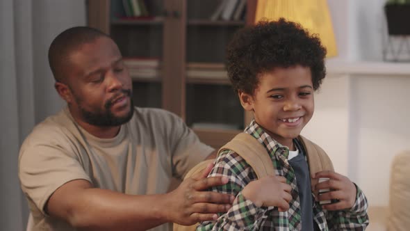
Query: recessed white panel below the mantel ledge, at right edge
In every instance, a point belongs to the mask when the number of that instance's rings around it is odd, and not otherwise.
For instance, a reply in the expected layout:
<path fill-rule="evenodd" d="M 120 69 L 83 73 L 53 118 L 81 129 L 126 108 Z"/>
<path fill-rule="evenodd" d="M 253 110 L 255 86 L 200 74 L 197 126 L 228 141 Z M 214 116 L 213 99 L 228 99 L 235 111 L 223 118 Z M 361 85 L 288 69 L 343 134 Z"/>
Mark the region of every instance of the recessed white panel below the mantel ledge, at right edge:
<path fill-rule="evenodd" d="M 392 159 L 410 149 L 410 76 L 359 77 L 355 83 L 358 182 L 366 187 L 370 202 L 386 205 Z"/>

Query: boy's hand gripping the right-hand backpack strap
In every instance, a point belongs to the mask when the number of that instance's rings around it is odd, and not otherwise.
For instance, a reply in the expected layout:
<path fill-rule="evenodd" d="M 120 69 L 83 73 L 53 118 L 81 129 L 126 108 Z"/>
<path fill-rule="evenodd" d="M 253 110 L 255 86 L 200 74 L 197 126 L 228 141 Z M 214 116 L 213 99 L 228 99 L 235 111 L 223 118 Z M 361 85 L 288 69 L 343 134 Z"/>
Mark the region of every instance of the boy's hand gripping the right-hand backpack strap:
<path fill-rule="evenodd" d="M 338 202 L 322 205 L 323 209 L 341 210 L 350 209 L 356 202 L 356 186 L 344 175 L 331 171 L 316 173 L 315 179 L 329 178 L 329 180 L 315 184 L 314 192 L 319 201 L 336 199 Z M 321 193 L 320 189 L 330 189 L 329 192 Z"/>

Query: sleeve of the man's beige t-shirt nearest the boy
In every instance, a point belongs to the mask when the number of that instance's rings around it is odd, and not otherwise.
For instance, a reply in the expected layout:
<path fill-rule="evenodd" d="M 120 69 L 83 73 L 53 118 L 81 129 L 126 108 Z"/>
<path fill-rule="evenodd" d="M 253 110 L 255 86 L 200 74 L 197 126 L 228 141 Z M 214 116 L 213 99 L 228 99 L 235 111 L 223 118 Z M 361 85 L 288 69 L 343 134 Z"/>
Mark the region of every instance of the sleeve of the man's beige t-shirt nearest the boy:
<path fill-rule="evenodd" d="M 172 115 L 171 146 L 174 176 L 180 179 L 186 173 L 208 157 L 213 148 L 199 141 L 195 132 L 181 118 Z"/>

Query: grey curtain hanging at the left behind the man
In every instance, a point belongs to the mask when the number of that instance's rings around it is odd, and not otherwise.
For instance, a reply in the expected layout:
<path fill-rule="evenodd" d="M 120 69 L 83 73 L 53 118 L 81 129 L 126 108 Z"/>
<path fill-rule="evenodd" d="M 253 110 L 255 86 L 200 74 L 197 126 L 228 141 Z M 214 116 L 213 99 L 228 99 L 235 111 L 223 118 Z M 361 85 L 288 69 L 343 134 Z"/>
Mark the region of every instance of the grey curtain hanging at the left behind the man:
<path fill-rule="evenodd" d="M 47 52 L 58 33 L 86 24 L 85 9 L 85 0 L 0 0 L 0 230 L 26 227 L 19 146 L 36 123 L 65 105 Z"/>

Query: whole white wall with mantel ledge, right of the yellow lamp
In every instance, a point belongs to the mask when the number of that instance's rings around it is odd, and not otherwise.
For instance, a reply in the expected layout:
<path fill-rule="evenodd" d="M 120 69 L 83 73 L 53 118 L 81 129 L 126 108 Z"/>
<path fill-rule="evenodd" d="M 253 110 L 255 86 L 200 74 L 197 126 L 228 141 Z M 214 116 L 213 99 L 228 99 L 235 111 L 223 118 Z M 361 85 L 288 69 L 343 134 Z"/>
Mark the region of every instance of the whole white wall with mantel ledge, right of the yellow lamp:
<path fill-rule="evenodd" d="M 327 62 L 303 131 L 359 184 L 370 206 L 388 205 L 393 157 L 410 150 L 410 63 L 382 61 L 384 2 L 328 0 L 338 56 Z"/>

